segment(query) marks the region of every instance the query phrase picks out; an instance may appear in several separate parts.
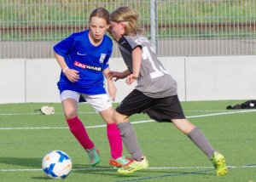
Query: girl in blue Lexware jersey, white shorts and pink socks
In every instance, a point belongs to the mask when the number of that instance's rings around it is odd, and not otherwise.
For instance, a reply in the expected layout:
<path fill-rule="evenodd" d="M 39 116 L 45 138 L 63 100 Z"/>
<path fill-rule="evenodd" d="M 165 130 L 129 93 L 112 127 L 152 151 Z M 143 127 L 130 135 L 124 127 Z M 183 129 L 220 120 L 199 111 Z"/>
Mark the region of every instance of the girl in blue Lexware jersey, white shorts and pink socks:
<path fill-rule="evenodd" d="M 90 164 L 100 162 L 99 151 L 78 117 L 79 98 L 83 97 L 107 123 L 107 135 L 112 159 L 109 164 L 122 167 L 129 162 L 122 156 L 122 139 L 113 122 L 111 99 L 115 99 L 116 88 L 107 75 L 108 60 L 112 54 L 112 40 L 105 35 L 109 27 L 109 13 L 103 8 L 94 9 L 90 14 L 90 28 L 73 33 L 54 46 L 55 58 L 61 66 L 58 88 L 61 104 L 70 131 L 87 151 Z M 108 81 L 108 94 L 104 88 L 104 76 Z"/>

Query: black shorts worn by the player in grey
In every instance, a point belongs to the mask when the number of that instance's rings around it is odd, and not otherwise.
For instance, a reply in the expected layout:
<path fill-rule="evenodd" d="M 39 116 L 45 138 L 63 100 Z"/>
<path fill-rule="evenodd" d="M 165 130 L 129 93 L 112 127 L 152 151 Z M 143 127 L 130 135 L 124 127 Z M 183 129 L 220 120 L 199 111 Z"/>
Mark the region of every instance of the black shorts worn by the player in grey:
<path fill-rule="evenodd" d="M 184 119 L 182 106 L 177 95 L 165 98 L 151 98 L 134 89 L 116 108 L 119 114 L 130 117 L 136 113 L 147 113 L 157 122 L 172 122 L 171 119 Z"/>

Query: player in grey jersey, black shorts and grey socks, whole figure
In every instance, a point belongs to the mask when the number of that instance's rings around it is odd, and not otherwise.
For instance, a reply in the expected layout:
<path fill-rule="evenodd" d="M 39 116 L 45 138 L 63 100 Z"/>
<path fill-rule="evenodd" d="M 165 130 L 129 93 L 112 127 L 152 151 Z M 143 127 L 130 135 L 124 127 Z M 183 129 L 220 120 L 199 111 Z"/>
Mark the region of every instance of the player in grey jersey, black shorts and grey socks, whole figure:
<path fill-rule="evenodd" d="M 119 44 L 119 50 L 127 65 L 126 71 L 110 71 L 110 79 L 126 78 L 131 85 L 137 80 L 136 88 L 128 94 L 113 113 L 131 162 L 119 173 L 133 173 L 148 168 L 148 160 L 143 156 L 129 117 L 135 113 L 147 113 L 157 122 L 172 122 L 177 129 L 187 134 L 195 145 L 203 151 L 216 169 L 217 175 L 227 173 L 224 156 L 212 148 L 201 130 L 184 117 L 177 97 L 177 83 L 157 59 L 148 38 L 138 26 L 138 14 L 129 7 L 120 7 L 110 15 L 110 33 Z"/>

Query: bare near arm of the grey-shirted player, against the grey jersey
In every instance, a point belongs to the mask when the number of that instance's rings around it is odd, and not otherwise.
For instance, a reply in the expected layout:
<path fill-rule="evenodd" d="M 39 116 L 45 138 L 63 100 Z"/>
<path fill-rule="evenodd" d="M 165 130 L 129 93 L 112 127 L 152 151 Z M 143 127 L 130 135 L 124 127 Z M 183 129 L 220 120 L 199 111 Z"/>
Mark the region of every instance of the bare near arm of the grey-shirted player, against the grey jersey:
<path fill-rule="evenodd" d="M 136 81 L 139 77 L 142 60 L 143 60 L 143 51 L 141 47 L 134 48 L 131 53 L 132 57 L 132 73 L 126 77 L 125 82 L 128 85 L 131 85 L 132 82 Z"/>

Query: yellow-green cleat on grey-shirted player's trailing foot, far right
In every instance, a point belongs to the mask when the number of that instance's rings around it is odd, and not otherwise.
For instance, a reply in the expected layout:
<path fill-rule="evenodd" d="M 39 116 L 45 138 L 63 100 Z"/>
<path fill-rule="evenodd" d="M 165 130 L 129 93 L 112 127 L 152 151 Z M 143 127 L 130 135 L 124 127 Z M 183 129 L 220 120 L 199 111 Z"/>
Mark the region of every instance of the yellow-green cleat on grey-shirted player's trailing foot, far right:
<path fill-rule="evenodd" d="M 216 170 L 217 175 L 225 175 L 228 173 L 228 169 L 226 167 L 226 162 L 224 159 L 224 156 L 215 151 L 212 155 L 212 163 L 214 165 L 214 168 Z"/>

